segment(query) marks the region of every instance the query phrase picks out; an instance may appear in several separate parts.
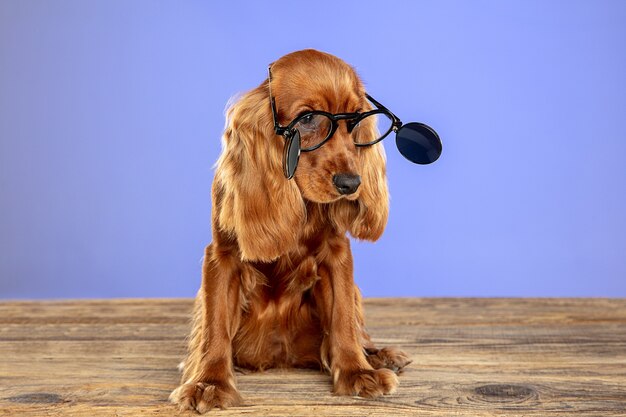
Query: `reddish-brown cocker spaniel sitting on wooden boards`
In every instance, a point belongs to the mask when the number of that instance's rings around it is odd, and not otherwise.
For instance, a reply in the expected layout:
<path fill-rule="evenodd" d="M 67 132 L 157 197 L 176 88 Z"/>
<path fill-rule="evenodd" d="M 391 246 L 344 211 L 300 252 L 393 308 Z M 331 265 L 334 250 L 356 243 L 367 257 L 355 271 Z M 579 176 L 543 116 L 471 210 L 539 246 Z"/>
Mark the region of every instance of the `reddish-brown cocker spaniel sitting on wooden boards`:
<path fill-rule="evenodd" d="M 373 398 L 394 392 L 410 363 L 398 349 L 377 349 L 366 332 L 347 237 L 375 241 L 385 228 L 382 144 L 355 146 L 354 126 L 338 120 L 288 179 L 285 138 L 276 133 L 310 110 L 371 110 L 363 83 L 350 65 L 312 49 L 270 68 L 271 79 L 227 110 L 212 186 L 213 240 L 181 385 L 170 395 L 181 410 L 240 404 L 235 367 L 318 368 L 332 376 L 334 394 Z M 358 134 L 375 137 L 376 129 L 364 120 Z M 300 136 L 304 148 L 311 139 Z"/>

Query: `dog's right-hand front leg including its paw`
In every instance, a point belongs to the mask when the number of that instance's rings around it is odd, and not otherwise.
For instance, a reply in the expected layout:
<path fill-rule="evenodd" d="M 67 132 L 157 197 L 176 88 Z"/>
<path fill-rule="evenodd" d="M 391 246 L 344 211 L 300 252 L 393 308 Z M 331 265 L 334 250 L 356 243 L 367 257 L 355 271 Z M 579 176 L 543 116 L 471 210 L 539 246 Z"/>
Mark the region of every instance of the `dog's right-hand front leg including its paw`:
<path fill-rule="evenodd" d="M 318 268 L 321 279 L 315 297 L 327 337 L 322 347 L 327 352 L 322 352 L 322 358 L 330 359 L 333 391 L 361 397 L 391 393 L 398 385 L 395 373 L 372 368 L 361 344 L 361 306 L 357 302 L 350 241 L 342 236 L 328 244 L 332 255 Z"/>

